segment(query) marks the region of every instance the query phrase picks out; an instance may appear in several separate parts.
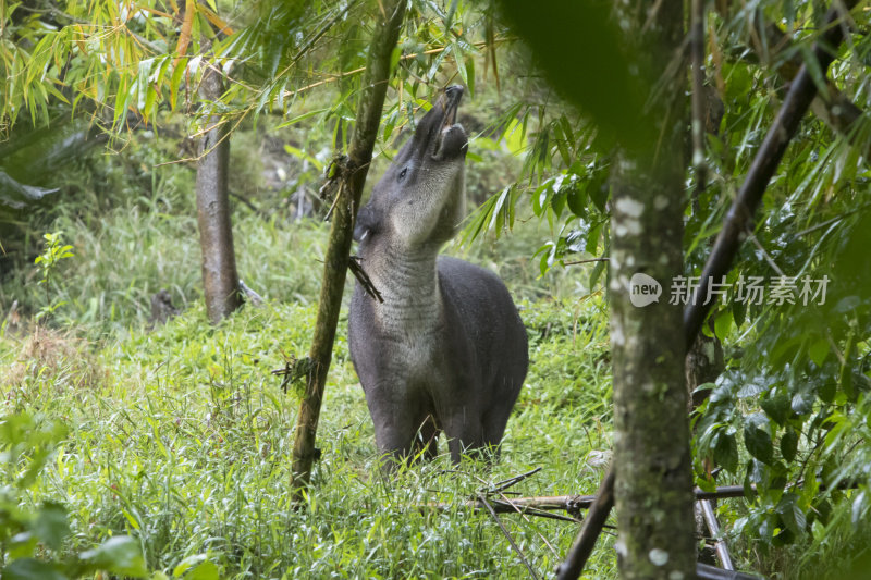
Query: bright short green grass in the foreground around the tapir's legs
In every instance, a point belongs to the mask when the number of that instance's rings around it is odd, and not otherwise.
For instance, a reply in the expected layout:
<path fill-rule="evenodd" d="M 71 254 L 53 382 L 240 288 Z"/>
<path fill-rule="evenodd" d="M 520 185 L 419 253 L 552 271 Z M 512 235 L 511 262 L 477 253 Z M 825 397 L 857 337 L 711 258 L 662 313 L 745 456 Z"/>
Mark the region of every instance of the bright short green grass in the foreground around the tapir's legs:
<path fill-rule="evenodd" d="M 168 576 L 194 562 L 221 578 L 525 577 L 492 519 L 459 504 L 535 467 L 542 471 L 513 491 L 594 491 L 602 473 L 585 458 L 609 447 L 611 421 L 600 301 L 525 304 L 536 363 L 492 470 L 474 461 L 455 468 L 442 456 L 395 479 L 376 467 L 343 323 L 318 432 L 322 459 L 309 504 L 295 509 L 297 402 L 270 370 L 305 354 L 314 316 L 311 304 L 272 301 L 210 328 L 196 303 L 155 332 L 102 346 L 48 331 L 40 347 L 34 336 L 7 335 L 4 414 L 60 418 L 69 428 L 27 502 L 65 505 L 74 532 L 66 550 L 131 534 L 149 569 Z M 453 507 L 417 509 L 430 502 Z M 502 520 L 543 576 L 577 531 L 569 522 Z M 590 577 L 613 576 L 611 551 L 597 558 Z"/>

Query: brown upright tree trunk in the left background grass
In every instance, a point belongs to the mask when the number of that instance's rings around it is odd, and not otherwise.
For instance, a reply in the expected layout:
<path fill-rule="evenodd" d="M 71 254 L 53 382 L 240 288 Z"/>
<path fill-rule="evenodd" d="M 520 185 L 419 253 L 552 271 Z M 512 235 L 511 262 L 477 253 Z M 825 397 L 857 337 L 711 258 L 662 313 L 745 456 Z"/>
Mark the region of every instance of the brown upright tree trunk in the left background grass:
<path fill-rule="evenodd" d="M 203 74 L 199 95 L 214 101 L 223 92 L 220 73 L 211 69 Z M 230 129 L 220 116 L 211 115 L 209 128 L 199 140 L 197 163 L 197 225 L 203 254 L 203 291 L 206 312 L 217 324 L 240 306 L 236 255 L 233 250 L 233 230 L 230 224 L 228 165 L 230 163 Z"/>

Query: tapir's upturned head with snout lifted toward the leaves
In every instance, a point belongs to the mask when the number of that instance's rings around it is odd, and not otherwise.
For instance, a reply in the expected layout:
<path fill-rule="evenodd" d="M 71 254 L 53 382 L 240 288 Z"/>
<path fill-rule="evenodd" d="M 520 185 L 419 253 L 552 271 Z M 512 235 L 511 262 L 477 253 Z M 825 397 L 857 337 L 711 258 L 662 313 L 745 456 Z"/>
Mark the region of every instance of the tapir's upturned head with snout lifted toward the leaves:
<path fill-rule="evenodd" d="M 389 236 L 405 247 L 444 244 L 463 219 L 468 138 L 456 123 L 463 87 L 447 87 L 417 124 L 369 203 L 357 215 L 354 237 Z"/>

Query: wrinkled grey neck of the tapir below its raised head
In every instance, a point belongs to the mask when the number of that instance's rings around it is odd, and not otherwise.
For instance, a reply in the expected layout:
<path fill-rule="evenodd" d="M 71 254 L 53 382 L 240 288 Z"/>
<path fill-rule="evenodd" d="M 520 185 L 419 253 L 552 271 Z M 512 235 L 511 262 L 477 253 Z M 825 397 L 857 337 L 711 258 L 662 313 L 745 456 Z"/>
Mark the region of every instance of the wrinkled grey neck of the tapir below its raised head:
<path fill-rule="evenodd" d="M 381 293 L 376 307 L 382 328 L 403 333 L 426 333 L 436 329 L 441 316 L 437 259 L 439 247 L 415 248 L 390 243 L 377 244 L 360 254 L 363 269 Z"/>

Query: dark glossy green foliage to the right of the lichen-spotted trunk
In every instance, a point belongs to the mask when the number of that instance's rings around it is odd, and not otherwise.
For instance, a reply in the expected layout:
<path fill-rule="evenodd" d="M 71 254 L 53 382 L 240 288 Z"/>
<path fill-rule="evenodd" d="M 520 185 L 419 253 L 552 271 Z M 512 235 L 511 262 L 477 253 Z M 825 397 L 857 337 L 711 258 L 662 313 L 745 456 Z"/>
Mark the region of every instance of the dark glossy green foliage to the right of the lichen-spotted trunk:
<path fill-rule="evenodd" d="M 817 18 L 809 8 L 801 4 L 790 18 Z M 753 33 L 746 25 L 740 18 L 719 23 L 727 53 L 748 44 Z M 859 45 L 847 50 L 845 62 L 867 50 Z M 773 58 L 776 64 L 788 54 Z M 860 82 L 856 69 L 845 62 L 836 63 L 830 76 L 855 86 Z M 698 197 L 687 223 L 692 275 L 709 251 L 703 242 L 725 211 L 728 196 L 723 194 L 737 189 L 771 123 L 772 107 L 763 95 L 777 97 L 771 75 L 746 60 L 726 61 L 722 72 L 725 131 L 708 140 L 716 178 Z M 716 334 L 733 345 L 733 356 L 716 384 L 708 385 L 711 396 L 699 409 L 698 483 L 713 484 L 703 476 L 701 459 L 708 457 L 726 478 L 745 484 L 748 508 L 724 515 L 734 522 L 732 533 L 747 539 L 748 552 L 772 562 L 775 554 L 787 554 L 812 565 L 831 556 L 833 546 L 866 533 L 861 522 L 871 474 L 861 442 L 869 435 L 871 277 L 860 261 L 871 243 L 871 213 L 863 202 L 871 174 L 858 162 L 869 140 L 855 136 L 867 133 L 867 121 L 854 131 L 833 135 L 819 121 L 801 126 L 766 192 L 753 242 L 743 247 L 725 281 L 727 295 L 713 314 Z M 760 300 L 741 295 L 752 276 L 766 291 Z M 807 281 L 811 293 L 802 295 Z M 793 289 L 782 304 L 771 299 L 777 284 Z M 788 563 L 780 564 L 789 569 Z"/>

